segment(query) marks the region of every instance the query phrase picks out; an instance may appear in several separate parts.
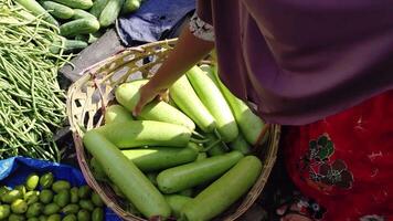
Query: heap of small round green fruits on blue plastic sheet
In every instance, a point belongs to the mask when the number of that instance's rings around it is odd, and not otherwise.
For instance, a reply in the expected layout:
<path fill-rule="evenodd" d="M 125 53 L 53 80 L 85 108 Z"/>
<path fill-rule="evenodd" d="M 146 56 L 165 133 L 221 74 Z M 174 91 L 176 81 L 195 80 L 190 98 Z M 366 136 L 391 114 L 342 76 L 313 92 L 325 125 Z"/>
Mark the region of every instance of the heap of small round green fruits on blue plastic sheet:
<path fill-rule="evenodd" d="M 104 203 L 88 186 L 71 187 L 52 172 L 31 173 L 25 182 L 0 188 L 0 220 L 103 221 Z"/>

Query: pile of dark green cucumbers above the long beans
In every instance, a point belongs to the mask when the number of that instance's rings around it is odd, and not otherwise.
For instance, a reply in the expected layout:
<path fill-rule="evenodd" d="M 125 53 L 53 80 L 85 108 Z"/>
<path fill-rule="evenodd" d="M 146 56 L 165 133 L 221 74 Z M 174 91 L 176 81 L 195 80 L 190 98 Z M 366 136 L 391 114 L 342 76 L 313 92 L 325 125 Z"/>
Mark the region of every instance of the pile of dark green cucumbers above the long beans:
<path fill-rule="evenodd" d="M 75 52 L 95 42 L 120 13 L 139 9 L 141 0 L 14 0 L 35 15 L 60 28 L 64 38 L 55 42 L 53 52 L 62 48 Z"/>

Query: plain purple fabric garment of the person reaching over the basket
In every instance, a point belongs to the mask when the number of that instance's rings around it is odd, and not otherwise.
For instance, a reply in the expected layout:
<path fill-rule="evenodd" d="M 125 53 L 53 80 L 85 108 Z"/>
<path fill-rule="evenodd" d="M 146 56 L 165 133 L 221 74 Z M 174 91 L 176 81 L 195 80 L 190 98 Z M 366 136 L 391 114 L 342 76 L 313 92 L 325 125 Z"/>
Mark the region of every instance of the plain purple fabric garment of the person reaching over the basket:
<path fill-rule="evenodd" d="M 302 125 L 393 88 L 393 0 L 199 0 L 220 75 L 261 116 Z"/>

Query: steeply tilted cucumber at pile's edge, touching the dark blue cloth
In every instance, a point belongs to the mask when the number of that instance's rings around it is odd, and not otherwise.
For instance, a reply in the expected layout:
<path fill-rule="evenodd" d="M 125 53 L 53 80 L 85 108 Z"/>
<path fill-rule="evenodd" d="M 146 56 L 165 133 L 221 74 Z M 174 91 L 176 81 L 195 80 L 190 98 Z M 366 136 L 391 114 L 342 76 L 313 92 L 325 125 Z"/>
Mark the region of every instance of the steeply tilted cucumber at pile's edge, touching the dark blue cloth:
<path fill-rule="evenodd" d="M 99 14 L 99 24 L 102 27 L 109 27 L 114 24 L 120 13 L 124 0 L 109 0 Z"/>

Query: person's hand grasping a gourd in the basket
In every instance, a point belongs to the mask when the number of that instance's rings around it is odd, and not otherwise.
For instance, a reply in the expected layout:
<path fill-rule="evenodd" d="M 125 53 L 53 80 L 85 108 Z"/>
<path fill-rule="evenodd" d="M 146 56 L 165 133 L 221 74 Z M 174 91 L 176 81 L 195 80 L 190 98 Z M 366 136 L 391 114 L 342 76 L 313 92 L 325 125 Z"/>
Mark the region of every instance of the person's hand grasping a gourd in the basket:
<path fill-rule="evenodd" d="M 155 98 L 159 101 L 168 102 L 169 94 L 168 90 L 158 90 L 156 86 L 147 83 L 139 88 L 139 101 L 132 110 L 132 115 L 136 117 L 144 109 L 146 104 L 151 102 Z"/>

